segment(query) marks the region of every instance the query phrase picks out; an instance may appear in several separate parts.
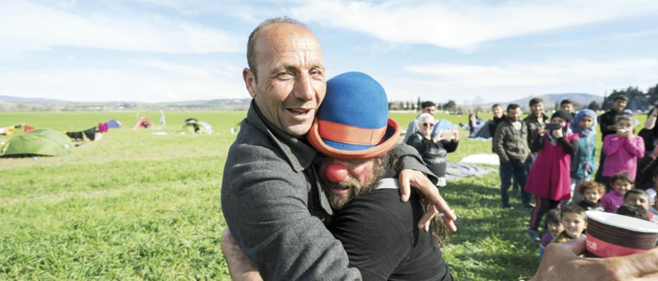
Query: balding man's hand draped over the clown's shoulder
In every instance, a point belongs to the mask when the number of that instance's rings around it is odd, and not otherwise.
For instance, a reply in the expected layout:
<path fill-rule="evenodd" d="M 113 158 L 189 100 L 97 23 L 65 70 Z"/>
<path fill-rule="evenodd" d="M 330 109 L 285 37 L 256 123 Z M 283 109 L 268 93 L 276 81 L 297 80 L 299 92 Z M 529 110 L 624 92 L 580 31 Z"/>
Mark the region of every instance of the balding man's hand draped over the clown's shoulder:
<path fill-rule="evenodd" d="M 413 186 L 428 205 L 433 205 L 434 208 L 436 208 L 433 211 L 426 212 L 422 218 L 420 218 L 420 221 L 418 222 L 419 229 L 428 229 L 426 225 L 429 226 L 432 219 L 438 215 L 438 213 L 443 213 L 443 221 L 445 221 L 445 225 L 448 229 L 452 232 L 457 231 L 457 227 L 455 226 L 457 216 L 455 216 L 455 213 L 450 209 L 447 202 L 443 200 L 436 185 L 434 185 L 424 173 L 412 169 L 402 170 L 399 174 L 399 184 L 402 202 L 407 202 L 407 200 L 409 200 L 409 196 L 411 196 L 411 186 Z"/>

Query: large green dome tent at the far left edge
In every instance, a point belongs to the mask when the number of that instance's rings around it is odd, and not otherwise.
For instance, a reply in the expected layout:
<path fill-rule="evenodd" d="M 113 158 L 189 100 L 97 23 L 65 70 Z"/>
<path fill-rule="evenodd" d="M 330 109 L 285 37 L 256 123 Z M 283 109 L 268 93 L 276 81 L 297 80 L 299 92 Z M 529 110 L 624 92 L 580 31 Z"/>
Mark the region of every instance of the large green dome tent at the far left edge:
<path fill-rule="evenodd" d="M 62 156 L 71 152 L 71 143 L 61 133 L 49 129 L 38 130 L 7 141 L 0 150 L 0 156 Z"/>

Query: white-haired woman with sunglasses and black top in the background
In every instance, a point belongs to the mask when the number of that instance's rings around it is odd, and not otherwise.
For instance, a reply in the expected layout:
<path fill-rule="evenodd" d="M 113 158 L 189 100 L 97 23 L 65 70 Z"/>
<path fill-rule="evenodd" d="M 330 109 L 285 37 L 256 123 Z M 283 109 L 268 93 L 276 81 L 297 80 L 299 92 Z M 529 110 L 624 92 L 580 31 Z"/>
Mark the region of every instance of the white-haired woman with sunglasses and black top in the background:
<path fill-rule="evenodd" d="M 459 132 L 457 128 L 453 131 L 440 130 L 432 134 L 434 130 L 434 117 L 424 113 L 418 116 L 418 132 L 409 136 L 407 144 L 418 150 L 427 167 L 439 177 L 437 186 L 445 186 L 446 157 L 449 152 L 457 150 L 459 144 Z"/>

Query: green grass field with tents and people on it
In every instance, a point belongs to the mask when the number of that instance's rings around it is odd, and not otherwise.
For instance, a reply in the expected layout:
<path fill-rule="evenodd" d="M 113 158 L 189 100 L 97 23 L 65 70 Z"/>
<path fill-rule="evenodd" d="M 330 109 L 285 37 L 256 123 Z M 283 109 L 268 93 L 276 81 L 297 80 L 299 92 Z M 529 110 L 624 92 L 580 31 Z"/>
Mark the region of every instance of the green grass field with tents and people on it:
<path fill-rule="evenodd" d="M 219 247 L 226 227 L 220 189 L 235 139 L 230 128 L 245 112 L 168 112 L 166 127 L 130 129 L 139 116 L 159 120 L 157 112 L 0 113 L 3 127 L 124 124 L 66 156 L 0 158 L 0 280 L 229 279 Z M 181 135 L 189 117 L 215 133 Z M 415 115 L 392 117 L 406 127 Z M 168 135 L 151 135 L 157 131 Z M 463 139 L 449 160 L 490 151 L 490 142 Z M 516 209 L 499 208 L 498 190 L 497 173 L 441 190 L 459 216 L 459 231 L 443 249 L 458 280 L 517 280 L 538 266 L 539 246 L 524 236 L 529 211 L 519 207 L 518 193 L 511 196 Z"/>

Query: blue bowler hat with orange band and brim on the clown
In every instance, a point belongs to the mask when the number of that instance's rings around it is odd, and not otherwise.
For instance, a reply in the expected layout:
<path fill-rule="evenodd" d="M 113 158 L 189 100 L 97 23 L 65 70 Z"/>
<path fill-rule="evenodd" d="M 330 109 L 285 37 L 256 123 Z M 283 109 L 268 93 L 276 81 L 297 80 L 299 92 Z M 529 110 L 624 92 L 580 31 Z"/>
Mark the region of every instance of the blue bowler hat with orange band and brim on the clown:
<path fill-rule="evenodd" d="M 327 81 L 307 139 L 322 154 L 359 160 L 388 152 L 399 135 L 399 126 L 388 118 L 384 87 L 367 74 L 347 72 Z"/>

